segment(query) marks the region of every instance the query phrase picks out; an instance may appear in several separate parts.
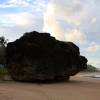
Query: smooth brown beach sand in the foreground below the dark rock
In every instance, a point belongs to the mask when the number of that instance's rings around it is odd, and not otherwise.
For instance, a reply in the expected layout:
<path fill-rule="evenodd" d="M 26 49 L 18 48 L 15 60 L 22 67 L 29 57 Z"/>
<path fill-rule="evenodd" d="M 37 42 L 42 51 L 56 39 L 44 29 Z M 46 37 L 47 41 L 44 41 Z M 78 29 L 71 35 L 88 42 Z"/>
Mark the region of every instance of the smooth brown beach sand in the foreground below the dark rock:
<path fill-rule="evenodd" d="M 0 82 L 0 100 L 100 100 L 100 80 L 75 76 L 70 82 Z"/>

